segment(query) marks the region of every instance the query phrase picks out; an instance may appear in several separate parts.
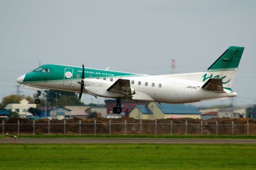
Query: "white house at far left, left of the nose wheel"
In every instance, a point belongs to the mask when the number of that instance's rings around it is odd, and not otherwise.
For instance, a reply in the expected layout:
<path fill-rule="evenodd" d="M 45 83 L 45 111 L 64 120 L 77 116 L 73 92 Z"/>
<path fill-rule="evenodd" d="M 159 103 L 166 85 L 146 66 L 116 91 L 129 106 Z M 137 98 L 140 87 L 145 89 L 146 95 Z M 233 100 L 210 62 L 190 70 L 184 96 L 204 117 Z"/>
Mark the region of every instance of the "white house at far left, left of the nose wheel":
<path fill-rule="evenodd" d="M 20 118 L 26 118 L 27 116 L 33 116 L 27 111 L 31 107 L 36 108 L 36 104 L 30 103 L 26 99 L 22 99 L 20 102 L 7 103 L 6 106 L 4 106 L 4 109 L 10 109 L 11 112 L 17 112 L 20 115 Z"/>

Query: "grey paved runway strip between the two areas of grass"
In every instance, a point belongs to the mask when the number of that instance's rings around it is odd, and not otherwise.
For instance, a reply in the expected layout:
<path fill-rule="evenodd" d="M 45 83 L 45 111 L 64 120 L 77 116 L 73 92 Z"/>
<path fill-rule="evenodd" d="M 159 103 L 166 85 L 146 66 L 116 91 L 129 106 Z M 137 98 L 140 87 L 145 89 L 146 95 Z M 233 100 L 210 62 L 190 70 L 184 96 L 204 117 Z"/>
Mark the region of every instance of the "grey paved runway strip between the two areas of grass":
<path fill-rule="evenodd" d="M 17 138 L 17 143 L 150 143 L 150 144 L 256 144 L 256 139 L 170 139 L 170 138 Z M 0 143 L 14 143 L 14 138 L 0 138 Z"/>

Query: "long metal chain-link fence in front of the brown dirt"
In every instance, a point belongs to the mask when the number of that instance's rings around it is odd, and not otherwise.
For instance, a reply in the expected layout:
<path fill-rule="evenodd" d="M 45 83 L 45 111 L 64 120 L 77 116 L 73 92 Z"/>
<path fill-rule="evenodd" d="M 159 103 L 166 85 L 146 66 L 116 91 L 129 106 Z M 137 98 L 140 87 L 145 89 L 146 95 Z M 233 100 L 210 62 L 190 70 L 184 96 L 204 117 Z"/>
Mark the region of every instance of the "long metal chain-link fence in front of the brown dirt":
<path fill-rule="evenodd" d="M 216 134 L 216 135 L 256 135 L 256 124 L 204 124 L 203 121 L 197 124 L 185 123 L 177 124 L 171 120 L 169 123 L 158 123 L 155 120 L 152 123 L 145 123 L 138 120 L 138 123 L 109 122 L 79 122 L 77 123 L 6 123 L 2 121 L 0 124 L 2 134 Z"/>

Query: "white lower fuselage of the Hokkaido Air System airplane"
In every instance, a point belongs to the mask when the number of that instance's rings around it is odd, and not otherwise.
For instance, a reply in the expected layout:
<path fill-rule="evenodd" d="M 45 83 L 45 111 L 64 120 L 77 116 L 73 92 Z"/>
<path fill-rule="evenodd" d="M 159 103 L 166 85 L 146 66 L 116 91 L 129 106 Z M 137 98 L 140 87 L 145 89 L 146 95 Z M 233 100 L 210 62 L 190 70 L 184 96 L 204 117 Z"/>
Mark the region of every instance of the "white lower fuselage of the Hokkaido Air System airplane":
<path fill-rule="evenodd" d="M 185 75 L 185 74 L 184 74 Z M 111 86 L 119 77 L 103 80 L 102 78 L 86 78 L 90 82 L 93 89 L 89 94 L 100 97 L 116 98 L 111 96 L 111 93 L 106 89 Z M 172 76 L 133 76 L 125 77 L 123 79 L 130 80 L 130 86 L 135 90 L 135 94 L 132 95 L 132 100 L 135 101 L 152 101 L 163 103 L 190 103 L 199 102 L 202 100 L 212 100 L 218 98 L 228 98 L 237 96 L 235 92 L 230 90 L 224 90 L 223 93 L 216 93 L 210 90 L 202 89 L 203 82 L 192 81 L 187 79 L 179 79 Z M 71 86 L 63 86 L 63 81 L 56 82 L 37 82 L 27 84 L 29 86 L 46 88 L 53 90 L 66 90 L 72 92 L 80 92 L 80 84 L 77 80 L 72 80 Z M 88 85 L 88 84 L 87 84 Z M 86 87 L 86 85 L 85 85 Z M 84 93 L 86 90 L 84 90 Z"/>

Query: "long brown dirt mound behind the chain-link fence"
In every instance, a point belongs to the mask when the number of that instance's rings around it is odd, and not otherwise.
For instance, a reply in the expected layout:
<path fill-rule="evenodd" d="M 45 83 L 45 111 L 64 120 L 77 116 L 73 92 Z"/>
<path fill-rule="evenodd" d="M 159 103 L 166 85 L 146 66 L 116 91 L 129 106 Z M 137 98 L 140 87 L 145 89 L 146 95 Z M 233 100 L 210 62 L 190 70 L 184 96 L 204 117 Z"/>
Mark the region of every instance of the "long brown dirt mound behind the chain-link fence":
<path fill-rule="evenodd" d="M 19 121 L 19 124 L 18 124 Z M 96 121 L 96 123 L 95 123 Z M 126 124 L 125 124 L 126 121 Z M 89 118 L 33 120 L 13 118 L 4 122 L 4 132 L 10 134 L 240 134 L 256 135 L 256 120 L 250 118 L 212 118 L 209 120 L 180 118 L 137 120 L 134 118 Z M 65 124 L 64 124 L 65 122 Z M 79 123 L 81 122 L 81 124 Z M 141 123 L 142 122 L 142 123 Z M 187 124 L 186 124 L 187 122 Z M 201 122 L 203 125 L 201 125 Z M 232 125 L 233 122 L 233 125 Z M 249 126 L 247 125 L 247 122 Z M 157 123 L 157 124 L 156 124 Z M 232 130 L 233 129 L 233 130 Z M 2 131 L 2 124 L 0 124 Z"/>

